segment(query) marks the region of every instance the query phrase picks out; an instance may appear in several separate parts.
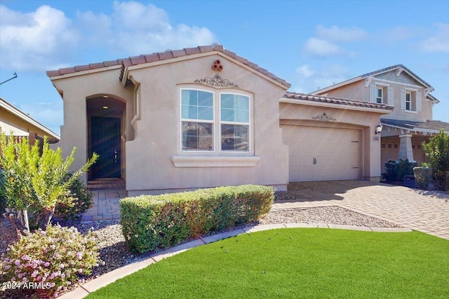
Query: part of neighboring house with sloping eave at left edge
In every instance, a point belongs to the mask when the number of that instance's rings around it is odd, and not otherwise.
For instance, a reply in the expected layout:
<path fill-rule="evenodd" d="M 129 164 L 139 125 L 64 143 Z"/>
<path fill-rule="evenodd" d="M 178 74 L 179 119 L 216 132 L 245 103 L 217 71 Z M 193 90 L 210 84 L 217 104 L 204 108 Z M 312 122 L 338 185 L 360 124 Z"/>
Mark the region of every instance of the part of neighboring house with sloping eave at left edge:
<path fill-rule="evenodd" d="M 10 136 L 13 134 L 15 141 L 20 141 L 26 137 L 29 144 L 33 145 L 36 140 L 42 144 L 43 137 L 48 138 L 48 142 L 54 144 L 60 140 L 58 134 L 55 134 L 47 127 L 41 125 L 28 114 L 15 108 L 12 104 L 6 102 L 0 97 L 0 132 Z"/>

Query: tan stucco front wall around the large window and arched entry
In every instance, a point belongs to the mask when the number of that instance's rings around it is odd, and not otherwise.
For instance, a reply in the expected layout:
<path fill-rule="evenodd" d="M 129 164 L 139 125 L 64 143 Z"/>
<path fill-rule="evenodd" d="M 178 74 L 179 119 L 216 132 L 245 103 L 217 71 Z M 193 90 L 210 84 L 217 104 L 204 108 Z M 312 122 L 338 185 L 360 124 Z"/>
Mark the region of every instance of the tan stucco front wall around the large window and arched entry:
<path fill-rule="evenodd" d="M 194 57 L 194 55 L 190 56 Z M 288 183 L 288 148 L 282 143 L 279 128 L 279 97 L 286 88 L 253 69 L 225 55 L 208 53 L 187 60 L 156 62 L 152 67 L 130 67 L 128 78 L 133 84 L 123 88 L 119 82 L 120 69 L 69 75 L 53 78 L 53 84 L 63 94 L 64 125 L 60 145 L 68 155 L 76 146 L 73 169 L 87 159 L 86 98 L 95 95 L 117 97 L 127 103 L 124 143 L 124 167 L 128 195 L 163 193 L 195 188 L 255 183 L 286 190 Z M 212 78 L 213 62 L 220 59 L 224 67 L 220 76 L 238 88 L 214 88 L 194 83 Z M 157 65 L 160 64 L 160 65 Z M 134 108 L 135 86 L 138 89 L 138 109 Z M 251 123 L 250 153 L 192 153 L 180 151 L 180 88 L 198 88 L 236 92 L 250 96 Z M 215 98 L 215 105 L 218 105 Z M 135 118 L 135 111 L 140 116 Z M 130 124 L 135 119 L 133 125 Z M 137 120 L 139 119 L 139 120 Z M 216 123 L 217 124 L 217 123 Z M 215 138 L 218 138 L 215 136 Z M 230 157 L 233 160 L 215 161 L 213 167 L 176 167 L 177 158 L 197 156 L 206 158 Z M 245 166 L 241 161 L 255 164 Z M 200 161 L 201 162 L 201 161 Z M 223 165 L 232 165 L 223 167 Z M 179 165 L 178 165 L 179 166 Z"/>

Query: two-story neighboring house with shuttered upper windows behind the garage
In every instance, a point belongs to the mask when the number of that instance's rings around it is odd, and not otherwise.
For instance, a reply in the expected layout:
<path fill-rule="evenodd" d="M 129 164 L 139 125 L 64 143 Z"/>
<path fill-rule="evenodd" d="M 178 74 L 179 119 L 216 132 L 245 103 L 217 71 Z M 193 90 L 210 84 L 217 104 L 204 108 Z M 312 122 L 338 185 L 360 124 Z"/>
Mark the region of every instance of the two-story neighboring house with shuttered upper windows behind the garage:
<path fill-rule="evenodd" d="M 432 118 L 438 99 L 430 94 L 434 88 L 402 64 L 363 74 L 356 78 L 311 92 L 312 95 L 346 97 L 368 103 L 394 106 L 393 113 L 381 116 L 381 166 L 388 160 L 408 158 L 425 162 L 422 142 L 449 123 Z"/>

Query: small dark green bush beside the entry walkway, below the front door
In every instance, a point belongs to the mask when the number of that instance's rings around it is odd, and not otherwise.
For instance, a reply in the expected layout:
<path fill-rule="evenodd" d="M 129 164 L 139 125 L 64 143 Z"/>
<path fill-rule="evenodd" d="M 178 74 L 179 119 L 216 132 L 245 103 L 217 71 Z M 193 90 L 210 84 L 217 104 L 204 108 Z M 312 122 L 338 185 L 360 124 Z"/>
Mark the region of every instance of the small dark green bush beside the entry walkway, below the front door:
<path fill-rule="evenodd" d="M 65 179 L 69 179 L 69 176 L 67 174 Z M 80 179 L 72 183 L 69 191 L 56 206 L 55 214 L 65 219 L 76 219 L 91 207 L 92 193 Z"/>

